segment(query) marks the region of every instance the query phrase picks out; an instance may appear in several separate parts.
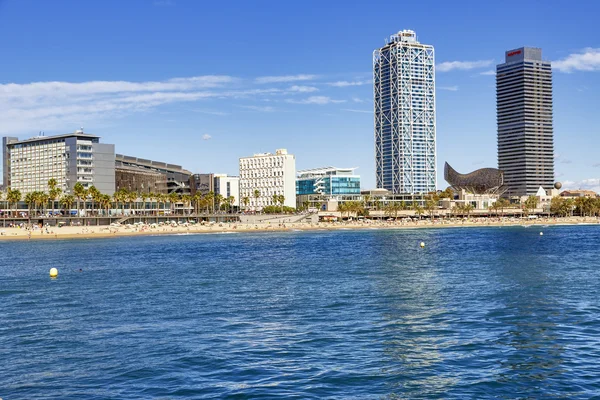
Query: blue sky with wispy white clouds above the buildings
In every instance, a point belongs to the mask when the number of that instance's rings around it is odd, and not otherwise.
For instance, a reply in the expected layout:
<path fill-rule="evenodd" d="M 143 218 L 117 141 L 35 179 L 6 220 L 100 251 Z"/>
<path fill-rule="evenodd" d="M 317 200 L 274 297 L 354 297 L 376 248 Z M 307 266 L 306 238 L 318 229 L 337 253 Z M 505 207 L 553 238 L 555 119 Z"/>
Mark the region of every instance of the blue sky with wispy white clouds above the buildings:
<path fill-rule="evenodd" d="M 373 50 L 435 48 L 437 169 L 496 167 L 495 65 L 553 64 L 555 175 L 600 191 L 600 2 L 0 0 L 0 135 L 85 132 L 116 152 L 238 174 L 286 148 L 298 170 L 375 186 Z"/>

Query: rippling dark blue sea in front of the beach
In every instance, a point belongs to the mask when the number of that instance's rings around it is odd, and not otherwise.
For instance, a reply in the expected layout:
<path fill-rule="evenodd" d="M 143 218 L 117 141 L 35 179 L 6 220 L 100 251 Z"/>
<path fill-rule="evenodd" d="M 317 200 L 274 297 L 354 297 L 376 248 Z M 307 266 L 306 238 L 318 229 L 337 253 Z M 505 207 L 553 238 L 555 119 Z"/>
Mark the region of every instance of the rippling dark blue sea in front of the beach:
<path fill-rule="evenodd" d="M 0 397 L 591 398 L 599 244 L 599 226 L 0 242 Z"/>

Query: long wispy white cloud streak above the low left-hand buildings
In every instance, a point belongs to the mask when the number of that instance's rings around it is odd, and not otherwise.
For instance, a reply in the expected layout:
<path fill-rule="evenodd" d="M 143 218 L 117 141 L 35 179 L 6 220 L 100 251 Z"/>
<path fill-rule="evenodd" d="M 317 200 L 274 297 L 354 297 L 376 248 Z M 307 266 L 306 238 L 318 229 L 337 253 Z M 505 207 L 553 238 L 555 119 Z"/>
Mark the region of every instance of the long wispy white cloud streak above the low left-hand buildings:
<path fill-rule="evenodd" d="M 261 99 L 276 88 L 239 90 L 230 76 L 197 76 L 165 81 L 33 82 L 0 84 L 0 134 L 71 129 L 97 124 L 175 102 L 205 99 Z M 197 111 L 225 115 L 220 111 Z"/>

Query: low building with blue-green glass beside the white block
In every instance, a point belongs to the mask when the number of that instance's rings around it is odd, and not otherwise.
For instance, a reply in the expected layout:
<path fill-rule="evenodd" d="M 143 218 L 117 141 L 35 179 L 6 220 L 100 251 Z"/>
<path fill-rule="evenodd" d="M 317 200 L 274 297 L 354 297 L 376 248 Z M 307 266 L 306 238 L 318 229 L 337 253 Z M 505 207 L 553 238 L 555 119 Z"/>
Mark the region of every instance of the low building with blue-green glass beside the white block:
<path fill-rule="evenodd" d="M 298 171 L 296 195 L 360 194 L 360 176 L 356 168 L 324 167 Z"/>

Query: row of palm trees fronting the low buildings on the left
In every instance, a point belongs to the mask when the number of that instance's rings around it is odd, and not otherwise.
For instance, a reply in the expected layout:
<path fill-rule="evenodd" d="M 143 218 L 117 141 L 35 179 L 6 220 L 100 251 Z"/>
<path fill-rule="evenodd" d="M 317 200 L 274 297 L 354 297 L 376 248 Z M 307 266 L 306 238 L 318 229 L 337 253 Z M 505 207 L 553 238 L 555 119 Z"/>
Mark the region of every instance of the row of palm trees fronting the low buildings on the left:
<path fill-rule="evenodd" d="M 69 210 L 76 204 L 77 216 L 81 216 L 82 209 L 88 209 L 88 203 L 90 203 L 89 210 L 92 215 L 99 215 L 101 210 L 104 210 L 105 215 L 108 215 L 110 209 L 121 209 L 124 214 L 126 208 L 130 210 L 136 207 L 139 208 L 140 201 L 142 203 L 141 209 L 144 211 L 146 210 L 147 201 L 150 201 L 150 212 L 153 213 L 158 213 L 161 209 L 164 210 L 167 204 L 169 204 L 171 212 L 174 213 L 176 211 L 175 205 L 178 203 L 183 204 L 183 213 L 189 215 L 191 210 L 196 214 L 200 212 L 211 213 L 217 210 L 231 212 L 235 202 L 233 196 L 224 197 L 214 192 L 205 195 L 196 193 L 192 196 L 179 193 L 137 193 L 119 189 L 110 196 L 100 193 L 94 186 L 86 188 L 80 182 L 77 182 L 73 187 L 73 194 L 63 194 L 61 196 L 62 190 L 57 187 L 55 179 L 48 181 L 48 188 L 47 193 L 43 191 L 29 192 L 24 197 L 19 190 L 9 188 L 5 196 L 0 193 L 0 200 L 5 197 L 9 209 L 16 209 L 17 204 L 23 200 L 27 204 L 30 215 L 38 212 L 46 214 L 48 209 L 56 210 L 59 208 L 57 202 L 62 209 L 70 213 Z M 82 203 L 83 207 L 81 206 Z"/>

